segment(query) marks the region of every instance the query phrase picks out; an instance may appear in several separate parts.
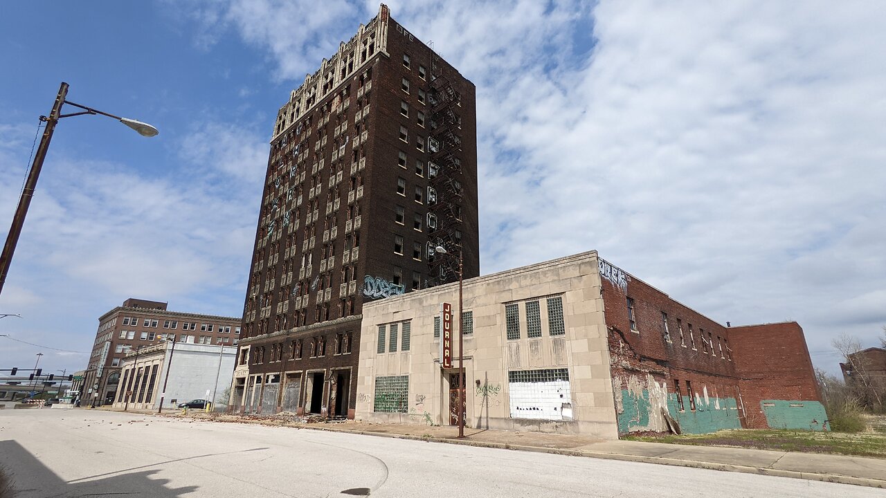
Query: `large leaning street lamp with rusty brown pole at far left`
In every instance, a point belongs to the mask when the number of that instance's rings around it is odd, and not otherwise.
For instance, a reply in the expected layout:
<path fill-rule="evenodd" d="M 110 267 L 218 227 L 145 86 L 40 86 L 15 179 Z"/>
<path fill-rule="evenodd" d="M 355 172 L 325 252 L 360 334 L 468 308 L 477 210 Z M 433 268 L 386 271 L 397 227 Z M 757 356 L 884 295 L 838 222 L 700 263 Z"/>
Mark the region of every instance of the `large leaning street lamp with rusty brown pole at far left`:
<path fill-rule="evenodd" d="M 58 120 L 62 118 L 70 118 L 72 116 L 80 116 L 82 114 L 101 114 L 109 118 L 120 121 L 129 128 L 135 129 L 141 136 L 156 136 L 159 132 L 157 128 L 152 127 L 142 121 L 121 118 L 109 113 L 97 111 L 85 105 L 74 104 L 66 100 L 68 84 L 61 83 L 58 89 L 58 97 L 55 104 L 52 105 L 52 111 L 49 117 L 40 116 L 40 121 L 46 122 L 46 128 L 43 129 L 43 138 L 40 139 L 40 146 L 37 147 L 37 153 L 34 156 L 34 162 L 31 164 L 30 171 L 27 173 L 27 181 L 25 187 L 21 191 L 19 198 L 19 206 L 15 209 L 15 215 L 12 216 L 12 228 L 6 236 L 6 244 L 3 247 L 3 254 L 0 255 L 0 292 L 3 292 L 3 285 L 6 282 L 6 274 L 9 272 L 10 263 L 12 262 L 12 253 L 15 253 L 15 246 L 19 243 L 19 235 L 21 235 L 21 227 L 25 224 L 25 216 L 27 215 L 27 207 L 31 205 L 31 198 L 34 197 L 34 190 L 37 186 L 37 178 L 40 176 L 40 170 L 43 168 L 43 160 L 46 159 L 46 152 L 49 150 L 52 132 L 55 130 Z M 62 105 L 73 105 L 83 111 L 79 113 L 62 114 Z"/>

